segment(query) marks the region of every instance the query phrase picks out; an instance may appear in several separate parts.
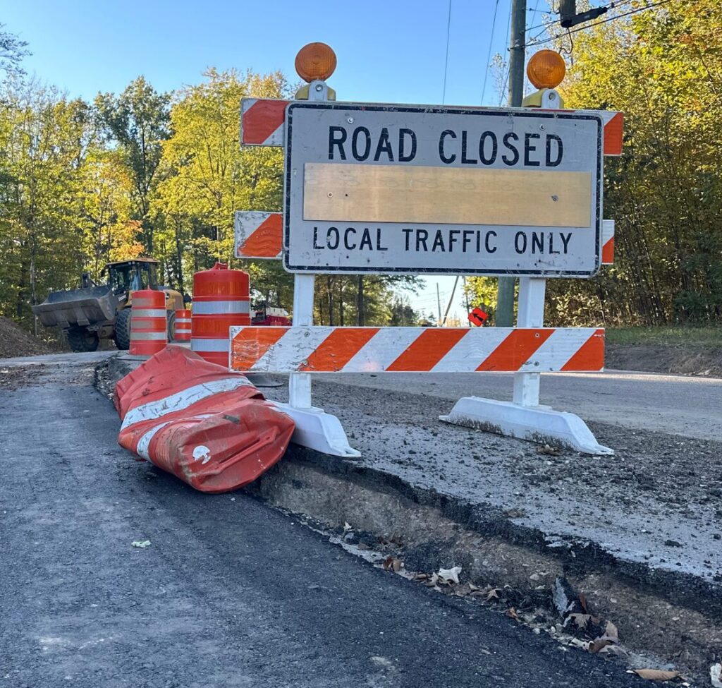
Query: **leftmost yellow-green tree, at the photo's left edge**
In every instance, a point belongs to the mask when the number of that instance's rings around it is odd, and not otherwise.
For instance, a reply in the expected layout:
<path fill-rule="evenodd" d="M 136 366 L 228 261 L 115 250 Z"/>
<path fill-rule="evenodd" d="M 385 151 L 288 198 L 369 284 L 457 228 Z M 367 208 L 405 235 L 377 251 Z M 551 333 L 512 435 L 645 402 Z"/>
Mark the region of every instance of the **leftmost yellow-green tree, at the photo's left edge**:
<path fill-rule="evenodd" d="M 82 271 L 82 171 L 97 137 L 87 103 L 51 87 L 14 79 L 2 98 L 0 311 L 31 322 L 30 305 Z"/>

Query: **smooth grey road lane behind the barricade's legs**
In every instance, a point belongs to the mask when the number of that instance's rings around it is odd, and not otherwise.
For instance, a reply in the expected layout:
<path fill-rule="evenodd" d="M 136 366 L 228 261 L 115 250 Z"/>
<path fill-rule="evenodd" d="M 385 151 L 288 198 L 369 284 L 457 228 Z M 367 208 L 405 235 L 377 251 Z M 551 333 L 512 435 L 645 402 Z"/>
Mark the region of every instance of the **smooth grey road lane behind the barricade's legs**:
<path fill-rule="evenodd" d="M 453 402 L 477 396 L 511 400 L 513 374 L 397 373 L 318 375 L 319 380 L 414 392 Z M 697 439 L 722 437 L 722 379 L 629 371 L 541 376 L 541 403 L 585 421 Z"/>

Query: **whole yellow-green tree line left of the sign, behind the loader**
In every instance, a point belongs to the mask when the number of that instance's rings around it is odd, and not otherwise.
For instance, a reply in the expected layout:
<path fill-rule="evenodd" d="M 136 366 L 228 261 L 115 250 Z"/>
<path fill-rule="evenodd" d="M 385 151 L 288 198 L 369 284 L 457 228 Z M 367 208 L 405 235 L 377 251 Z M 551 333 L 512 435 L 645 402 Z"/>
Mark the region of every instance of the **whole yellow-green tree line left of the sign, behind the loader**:
<path fill-rule="evenodd" d="M 1 39 L 1 34 L 0 34 Z M 241 148 L 240 100 L 287 98 L 285 77 L 210 69 L 199 85 L 157 93 L 139 77 L 120 95 L 68 100 L 8 82 L 0 109 L 0 314 L 32 323 L 48 291 L 100 278 L 109 260 L 152 255 L 163 283 L 186 293 L 219 260 L 247 270 L 252 296 L 292 308 L 278 261 L 233 256 L 235 210 L 281 210 L 282 152 Z M 321 323 L 413 324 L 394 290 L 409 277 L 322 276 Z"/>

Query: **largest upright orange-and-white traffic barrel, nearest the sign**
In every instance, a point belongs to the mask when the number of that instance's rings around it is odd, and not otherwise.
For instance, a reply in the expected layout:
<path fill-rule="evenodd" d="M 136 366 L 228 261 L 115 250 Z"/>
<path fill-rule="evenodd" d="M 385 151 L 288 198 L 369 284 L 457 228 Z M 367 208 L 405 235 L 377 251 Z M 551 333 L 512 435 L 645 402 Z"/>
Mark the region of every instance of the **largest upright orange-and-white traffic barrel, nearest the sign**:
<path fill-rule="evenodd" d="M 228 367 L 233 325 L 251 324 L 248 272 L 216 263 L 193 275 L 191 350 L 206 361 Z"/>

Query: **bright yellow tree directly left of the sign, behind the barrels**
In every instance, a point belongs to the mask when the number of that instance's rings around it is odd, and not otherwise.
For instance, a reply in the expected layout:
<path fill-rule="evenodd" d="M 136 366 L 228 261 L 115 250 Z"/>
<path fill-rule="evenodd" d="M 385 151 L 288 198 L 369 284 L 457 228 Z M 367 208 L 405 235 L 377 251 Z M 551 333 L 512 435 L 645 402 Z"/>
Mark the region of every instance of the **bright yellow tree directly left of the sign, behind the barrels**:
<path fill-rule="evenodd" d="M 262 76 L 215 69 L 204 76 L 203 83 L 175 97 L 173 137 L 163 145 L 163 179 L 152 204 L 162 217 L 160 254 L 172 266 L 166 272 L 180 285 L 216 260 L 235 264 L 235 210 L 280 210 L 282 200 L 282 153 L 241 149 L 238 116 L 243 96 L 287 95 L 285 78 L 278 72 Z M 290 307 L 292 278 L 278 262 L 241 262 L 238 267 L 251 273 L 259 297 Z"/>

